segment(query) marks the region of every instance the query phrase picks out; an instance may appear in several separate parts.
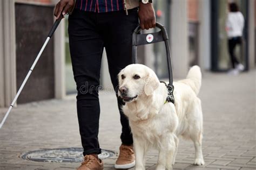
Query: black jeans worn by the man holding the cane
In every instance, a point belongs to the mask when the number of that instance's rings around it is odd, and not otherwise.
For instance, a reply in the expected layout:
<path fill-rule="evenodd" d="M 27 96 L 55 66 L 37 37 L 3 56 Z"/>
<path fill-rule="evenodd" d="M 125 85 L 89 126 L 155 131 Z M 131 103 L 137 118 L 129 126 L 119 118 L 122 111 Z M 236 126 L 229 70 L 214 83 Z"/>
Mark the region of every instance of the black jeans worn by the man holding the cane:
<path fill-rule="evenodd" d="M 94 13 L 74 10 L 69 16 L 69 44 L 77 84 L 77 115 L 84 155 L 101 153 L 98 143 L 100 62 L 106 49 L 109 73 L 117 93 L 117 74 L 132 63 L 132 32 L 138 26 L 138 10 Z M 118 100 L 121 140 L 133 143 L 129 122 Z"/>

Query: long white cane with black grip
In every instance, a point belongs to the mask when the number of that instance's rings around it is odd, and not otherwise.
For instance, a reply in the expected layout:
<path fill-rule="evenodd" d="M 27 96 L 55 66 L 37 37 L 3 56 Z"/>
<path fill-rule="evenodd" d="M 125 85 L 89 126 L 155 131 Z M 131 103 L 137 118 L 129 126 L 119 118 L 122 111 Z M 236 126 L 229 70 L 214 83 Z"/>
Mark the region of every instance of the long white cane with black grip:
<path fill-rule="evenodd" d="M 19 90 L 18 90 L 17 94 L 16 94 L 15 97 L 14 97 L 14 100 L 11 102 L 11 105 L 10 105 L 8 111 L 7 111 L 6 114 L 4 115 L 4 118 L 3 118 L 3 120 L 2 120 L 2 122 L 1 122 L 1 124 L 0 124 L 0 129 L 1 129 L 2 126 L 4 125 L 4 122 L 6 121 L 6 118 L 8 117 L 8 115 L 10 114 L 11 109 L 14 107 L 14 104 L 16 103 L 17 98 L 19 97 L 19 94 L 21 94 L 21 91 L 22 91 L 23 87 L 25 86 L 26 81 L 28 81 L 29 76 L 30 76 L 30 74 L 32 73 L 33 69 L 35 68 L 36 63 L 37 63 L 37 61 L 39 60 L 41 54 L 43 53 L 45 46 L 48 44 L 48 41 L 50 40 L 50 38 L 52 37 L 52 34 L 53 34 L 53 33 L 55 32 L 55 30 L 57 29 L 57 27 L 58 27 L 60 21 L 62 20 L 62 18 L 63 18 L 63 16 L 60 16 L 60 17 L 55 21 L 55 23 L 53 24 L 53 26 L 52 26 L 52 28 L 51 28 L 51 31 L 49 32 L 48 37 L 46 38 L 46 40 L 45 40 L 45 42 L 44 42 L 43 47 L 41 48 L 41 50 L 40 50 L 39 53 L 37 54 L 36 60 L 33 62 L 33 65 L 32 65 L 31 68 L 29 69 L 29 73 L 26 75 L 24 81 L 22 82 L 21 87 L 19 87 Z"/>

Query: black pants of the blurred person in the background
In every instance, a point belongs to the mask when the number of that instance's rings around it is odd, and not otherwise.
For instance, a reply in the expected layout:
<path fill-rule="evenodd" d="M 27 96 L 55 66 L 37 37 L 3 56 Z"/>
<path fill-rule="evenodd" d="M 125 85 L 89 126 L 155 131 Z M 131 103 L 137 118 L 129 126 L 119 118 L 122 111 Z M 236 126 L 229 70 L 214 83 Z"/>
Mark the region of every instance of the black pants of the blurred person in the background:
<path fill-rule="evenodd" d="M 242 44 L 241 37 L 233 37 L 231 39 L 228 39 L 228 52 L 230 53 L 230 60 L 233 68 L 235 68 L 235 65 L 239 64 L 239 61 L 234 55 L 235 46 L 238 44 Z"/>

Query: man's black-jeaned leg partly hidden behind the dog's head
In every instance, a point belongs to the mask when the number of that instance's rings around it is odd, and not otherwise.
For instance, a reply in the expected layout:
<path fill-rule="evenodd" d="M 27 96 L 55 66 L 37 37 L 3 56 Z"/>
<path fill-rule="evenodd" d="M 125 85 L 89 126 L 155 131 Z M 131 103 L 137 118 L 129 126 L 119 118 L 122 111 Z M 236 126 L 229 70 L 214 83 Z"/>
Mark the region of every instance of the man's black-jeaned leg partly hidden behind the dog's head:
<path fill-rule="evenodd" d="M 121 69 L 132 63 L 132 33 L 138 26 L 137 9 L 99 14 L 99 22 L 108 18 L 107 26 L 104 27 L 104 45 L 106 48 L 107 62 L 111 81 L 116 93 L 118 91 L 117 74 Z M 125 145 L 132 145 L 133 139 L 127 117 L 123 114 L 121 101 L 118 100 L 120 121 L 122 124 L 121 140 Z"/>

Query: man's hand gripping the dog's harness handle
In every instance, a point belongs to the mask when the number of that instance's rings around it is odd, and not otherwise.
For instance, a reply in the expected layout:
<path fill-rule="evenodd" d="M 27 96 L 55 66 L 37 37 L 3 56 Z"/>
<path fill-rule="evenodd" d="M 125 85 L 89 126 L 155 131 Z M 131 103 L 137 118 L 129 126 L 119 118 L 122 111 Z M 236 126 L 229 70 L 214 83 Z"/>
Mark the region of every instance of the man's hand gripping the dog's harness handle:
<path fill-rule="evenodd" d="M 152 3 L 143 4 L 142 2 L 140 2 L 138 15 L 140 21 L 140 28 L 142 30 L 149 30 L 156 27 L 156 16 L 154 14 L 154 8 Z"/>

